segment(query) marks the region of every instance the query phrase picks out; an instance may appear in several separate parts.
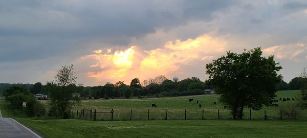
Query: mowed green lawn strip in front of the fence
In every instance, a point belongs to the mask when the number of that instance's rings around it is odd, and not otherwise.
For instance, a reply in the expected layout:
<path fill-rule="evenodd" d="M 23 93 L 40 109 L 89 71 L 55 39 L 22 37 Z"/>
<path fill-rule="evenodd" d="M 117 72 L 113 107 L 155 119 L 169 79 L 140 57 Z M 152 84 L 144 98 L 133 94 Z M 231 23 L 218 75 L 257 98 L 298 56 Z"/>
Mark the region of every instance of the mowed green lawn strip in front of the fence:
<path fill-rule="evenodd" d="M 306 121 L 84 121 L 16 119 L 45 137 L 305 137 Z"/>

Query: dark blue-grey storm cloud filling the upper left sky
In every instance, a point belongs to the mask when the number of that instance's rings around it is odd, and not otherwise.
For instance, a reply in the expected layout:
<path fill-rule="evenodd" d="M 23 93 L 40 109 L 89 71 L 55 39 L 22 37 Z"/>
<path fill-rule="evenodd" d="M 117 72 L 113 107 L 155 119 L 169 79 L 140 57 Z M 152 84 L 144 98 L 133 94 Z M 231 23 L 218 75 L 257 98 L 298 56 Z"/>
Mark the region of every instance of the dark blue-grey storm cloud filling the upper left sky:
<path fill-rule="evenodd" d="M 0 61 L 57 56 L 76 50 L 82 38 L 126 45 L 157 28 L 169 29 L 211 14 L 233 1 L 1 1 Z M 75 41 L 75 43 L 71 42 Z M 86 48 L 86 45 L 77 48 Z M 25 56 L 27 55 L 27 56 Z"/>

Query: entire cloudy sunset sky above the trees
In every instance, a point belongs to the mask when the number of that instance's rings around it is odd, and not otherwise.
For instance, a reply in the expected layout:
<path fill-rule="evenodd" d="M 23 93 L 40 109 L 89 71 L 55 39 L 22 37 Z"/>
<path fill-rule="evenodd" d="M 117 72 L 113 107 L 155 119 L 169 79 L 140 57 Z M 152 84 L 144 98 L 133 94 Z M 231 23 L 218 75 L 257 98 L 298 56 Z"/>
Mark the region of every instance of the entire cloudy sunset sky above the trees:
<path fill-rule="evenodd" d="M 43 84 L 73 63 L 85 86 L 160 75 L 261 47 L 289 82 L 307 66 L 307 1 L 0 1 L 0 83 Z"/>

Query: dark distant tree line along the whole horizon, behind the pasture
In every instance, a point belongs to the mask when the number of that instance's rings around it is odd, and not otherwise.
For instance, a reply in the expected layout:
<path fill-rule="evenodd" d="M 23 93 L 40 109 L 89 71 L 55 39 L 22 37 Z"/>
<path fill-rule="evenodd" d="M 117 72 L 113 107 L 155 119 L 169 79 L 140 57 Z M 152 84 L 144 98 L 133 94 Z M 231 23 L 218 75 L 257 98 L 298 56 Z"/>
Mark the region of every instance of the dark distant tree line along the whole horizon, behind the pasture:
<path fill-rule="evenodd" d="M 155 80 L 156 78 L 164 78 L 164 80 L 157 81 Z M 99 85 L 99 86 L 73 85 L 72 89 L 74 93 L 79 93 L 81 97 L 87 97 L 87 98 L 91 97 L 95 99 L 97 98 L 109 99 L 109 98 L 147 96 L 147 95 L 160 96 L 160 97 L 180 96 L 180 95 L 187 95 L 187 93 L 192 93 L 191 90 L 213 89 L 208 82 L 206 81 L 202 82 L 199 78 L 196 77 L 186 78 L 178 82 L 169 80 L 165 76 L 158 76 L 156 78 L 144 80 L 142 82 L 142 85 L 141 83 L 139 85 L 138 84 L 136 85 L 134 83 L 132 87 L 130 87 L 130 85 L 125 84 L 123 81 L 118 81 L 115 84 L 107 82 L 105 85 Z M 304 83 L 304 78 L 302 77 L 295 77 L 289 83 L 281 80 L 277 84 L 276 90 L 302 89 L 303 83 Z M 0 83 L 0 93 L 3 93 L 3 90 L 10 86 L 24 86 L 33 95 L 34 94 L 49 95 L 48 92 L 49 86 L 42 85 L 40 82 L 37 82 L 35 84 Z"/>

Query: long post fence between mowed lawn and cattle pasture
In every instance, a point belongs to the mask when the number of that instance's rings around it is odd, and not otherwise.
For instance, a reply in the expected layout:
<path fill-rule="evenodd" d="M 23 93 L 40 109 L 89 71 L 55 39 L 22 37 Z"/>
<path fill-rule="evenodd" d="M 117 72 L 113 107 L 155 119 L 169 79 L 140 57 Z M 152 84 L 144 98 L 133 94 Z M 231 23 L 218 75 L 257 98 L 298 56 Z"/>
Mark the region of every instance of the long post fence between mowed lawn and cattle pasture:
<path fill-rule="evenodd" d="M 267 110 L 252 111 L 246 110 L 243 119 L 257 120 L 304 120 L 305 113 L 293 110 L 291 112 L 280 110 L 269 112 Z M 194 110 L 176 110 L 176 109 L 148 109 L 148 110 L 105 110 L 97 111 L 82 109 L 70 112 L 72 119 L 84 119 L 92 121 L 124 121 L 124 120 L 204 120 L 204 119 L 231 119 L 229 110 L 223 109 L 194 109 Z"/>

